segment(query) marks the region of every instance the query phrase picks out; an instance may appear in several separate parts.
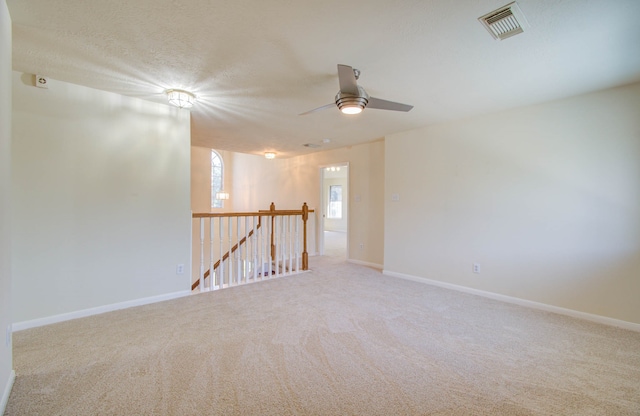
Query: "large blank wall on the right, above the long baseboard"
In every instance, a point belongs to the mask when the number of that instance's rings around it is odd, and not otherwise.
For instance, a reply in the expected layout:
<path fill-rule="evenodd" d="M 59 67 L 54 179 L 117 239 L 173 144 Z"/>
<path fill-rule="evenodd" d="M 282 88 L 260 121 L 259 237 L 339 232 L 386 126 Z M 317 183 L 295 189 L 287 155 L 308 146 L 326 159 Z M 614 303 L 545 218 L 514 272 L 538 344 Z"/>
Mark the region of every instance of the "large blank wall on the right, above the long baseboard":
<path fill-rule="evenodd" d="M 634 84 L 387 137 L 385 271 L 640 323 L 639 114 Z"/>

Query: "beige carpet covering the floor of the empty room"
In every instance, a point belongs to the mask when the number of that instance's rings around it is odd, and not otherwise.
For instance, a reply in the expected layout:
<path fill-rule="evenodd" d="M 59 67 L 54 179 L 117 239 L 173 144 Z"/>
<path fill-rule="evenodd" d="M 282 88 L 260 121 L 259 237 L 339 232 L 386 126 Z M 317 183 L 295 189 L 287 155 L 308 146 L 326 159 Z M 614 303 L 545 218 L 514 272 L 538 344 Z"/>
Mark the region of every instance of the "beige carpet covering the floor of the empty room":
<path fill-rule="evenodd" d="M 640 333 L 311 266 L 18 332 L 5 414 L 640 414 Z"/>

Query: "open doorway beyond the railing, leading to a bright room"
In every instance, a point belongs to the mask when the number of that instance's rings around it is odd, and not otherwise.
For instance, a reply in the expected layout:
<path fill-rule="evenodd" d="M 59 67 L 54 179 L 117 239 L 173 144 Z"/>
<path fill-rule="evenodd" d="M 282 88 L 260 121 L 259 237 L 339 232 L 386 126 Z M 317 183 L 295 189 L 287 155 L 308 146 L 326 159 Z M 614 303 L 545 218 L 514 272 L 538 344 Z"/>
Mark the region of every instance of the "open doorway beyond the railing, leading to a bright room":
<path fill-rule="evenodd" d="M 349 258 L 349 164 L 320 168 L 320 254 Z"/>

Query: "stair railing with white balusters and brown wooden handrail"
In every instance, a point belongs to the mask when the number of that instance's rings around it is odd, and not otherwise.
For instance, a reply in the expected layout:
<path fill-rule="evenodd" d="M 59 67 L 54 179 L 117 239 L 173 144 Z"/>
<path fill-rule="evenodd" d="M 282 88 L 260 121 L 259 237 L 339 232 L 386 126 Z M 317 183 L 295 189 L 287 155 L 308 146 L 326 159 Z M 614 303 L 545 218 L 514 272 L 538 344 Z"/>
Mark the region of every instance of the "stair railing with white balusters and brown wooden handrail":
<path fill-rule="evenodd" d="M 216 290 L 308 270 L 309 212 L 314 211 L 305 202 L 300 210 L 276 210 L 271 203 L 258 212 L 194 213 L 200 250 L 199 256 L 194 250 L 193 270 L 199 274 L 191 289 Z"/>

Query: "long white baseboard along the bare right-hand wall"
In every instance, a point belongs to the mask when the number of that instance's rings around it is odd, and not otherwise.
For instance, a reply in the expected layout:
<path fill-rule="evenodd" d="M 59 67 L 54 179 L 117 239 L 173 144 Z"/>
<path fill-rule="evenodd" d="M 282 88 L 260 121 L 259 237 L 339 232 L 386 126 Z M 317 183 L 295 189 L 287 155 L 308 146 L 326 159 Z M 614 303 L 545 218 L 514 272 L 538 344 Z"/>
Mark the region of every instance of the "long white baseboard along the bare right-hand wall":
<path fill-rule="evenodd" d="M 622 321 L 620 319 L 608 318 L 606 316 L 594 315 L 591 313 L 580 312 L 573 309 L 561 308 L 559 306 L 548 305 L 546 303 L 534 302 L 531 300 L 515 298 L 512 296 L 501 295 L 499 293 L 486 292 L 484 290 L 473 289 L 466 286 L 454 285 L 452 283 L 440 282 L 438 280 L 427 279 L 425 277 L 418 277 L 404 273 L 392 272 L 389 270 L 383 270 L 382 274 L 392 277 L 399 277 L 401 279 L 412 280 L 414 282 L 426 283 L 432 286 L 438 286 L 445 289 L 457 290 L 458 292 L 470 293 L 472 295 L 483 296 L 485 298 L 499 300 L 502 302 L 513 303 L 515 305 L 525 306 L 532 309 L 539 309 L 547 312 L 554 312 L 561 315 L 571 316 L 573 318 L 584 319 L 591 322 L 597 322 L 599 324 L 615 326 L 618 328 L 628 329 L 635 332 L 640 332 L 640 324 L 634 322 Z"/>

